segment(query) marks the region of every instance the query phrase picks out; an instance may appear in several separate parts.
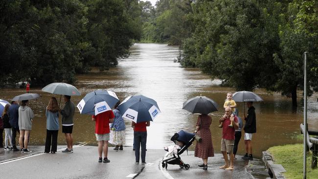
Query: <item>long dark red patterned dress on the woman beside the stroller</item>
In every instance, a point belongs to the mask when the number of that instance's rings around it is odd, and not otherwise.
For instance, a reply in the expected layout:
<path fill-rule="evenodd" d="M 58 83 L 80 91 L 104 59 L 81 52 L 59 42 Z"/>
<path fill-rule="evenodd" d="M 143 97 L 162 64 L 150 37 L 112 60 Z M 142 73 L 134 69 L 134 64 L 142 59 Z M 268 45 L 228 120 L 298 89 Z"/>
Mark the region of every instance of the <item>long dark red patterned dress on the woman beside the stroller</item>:
<path fill-rule="evenodd" d="M 214 157 L 212 137 L 210 131 L 212 119 L 209 115 L 201 114 L 198 117 L 197 126 L 200 126 L 198 135 L 202 138 L 195 146 L 194 156 L 199 158 Z"/>

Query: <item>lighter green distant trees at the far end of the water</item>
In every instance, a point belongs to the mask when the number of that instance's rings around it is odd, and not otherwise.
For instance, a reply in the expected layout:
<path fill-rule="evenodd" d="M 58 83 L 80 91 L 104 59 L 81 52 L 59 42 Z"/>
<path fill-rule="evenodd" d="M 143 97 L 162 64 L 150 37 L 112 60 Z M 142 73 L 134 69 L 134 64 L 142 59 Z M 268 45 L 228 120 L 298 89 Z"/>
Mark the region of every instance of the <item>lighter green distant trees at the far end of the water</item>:
<path fill-rule="evenodd" d="M 181 45 L 182 39 L 191 35 L 193 23 L 188 16 L 192 12 L 193 0 L 159 0 L 156 9 L 149 1 L 139 4 L 147 19 L 143 23 L 142 42 Z"/>

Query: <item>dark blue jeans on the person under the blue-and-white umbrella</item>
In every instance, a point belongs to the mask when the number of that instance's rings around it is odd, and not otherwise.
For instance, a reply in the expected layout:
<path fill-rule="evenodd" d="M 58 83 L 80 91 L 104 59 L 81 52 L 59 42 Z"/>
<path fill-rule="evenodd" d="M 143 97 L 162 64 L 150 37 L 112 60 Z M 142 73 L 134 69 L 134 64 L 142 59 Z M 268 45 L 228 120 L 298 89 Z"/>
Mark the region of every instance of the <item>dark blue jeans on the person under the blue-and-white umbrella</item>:
<path fill-rule="evenodd" d="M 135 143 L 136 161 L 139 162 L 140 144 L 141 144 L 141 161 L 146 161 L 147 132 L 134 132 L 134 143 Z"/>

